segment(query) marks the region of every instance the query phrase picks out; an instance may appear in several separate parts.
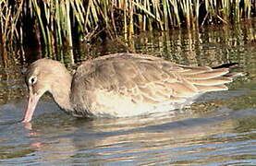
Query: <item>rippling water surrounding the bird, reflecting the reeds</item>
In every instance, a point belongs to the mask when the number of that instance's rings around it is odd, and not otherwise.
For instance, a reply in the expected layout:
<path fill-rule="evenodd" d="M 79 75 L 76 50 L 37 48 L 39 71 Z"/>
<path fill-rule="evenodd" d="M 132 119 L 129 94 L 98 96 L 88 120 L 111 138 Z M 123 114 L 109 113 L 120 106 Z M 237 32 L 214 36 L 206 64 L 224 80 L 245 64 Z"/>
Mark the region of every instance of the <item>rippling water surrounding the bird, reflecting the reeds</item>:
<path fill-rule="evenodd" d="M 256 165 L 255 26 L 141 33 L 125 44 L 42 53 L 69 68 L 85 54 L 129 50 L 184 65 L 238 62 L 246 74 L 190 108 L 133 118 L 76 119 L 44 96 L 31 124 L 22 125 L 27 89 L 21 70 L 38 54 L 6 53 L 0 60 L 0 165 Z"/>

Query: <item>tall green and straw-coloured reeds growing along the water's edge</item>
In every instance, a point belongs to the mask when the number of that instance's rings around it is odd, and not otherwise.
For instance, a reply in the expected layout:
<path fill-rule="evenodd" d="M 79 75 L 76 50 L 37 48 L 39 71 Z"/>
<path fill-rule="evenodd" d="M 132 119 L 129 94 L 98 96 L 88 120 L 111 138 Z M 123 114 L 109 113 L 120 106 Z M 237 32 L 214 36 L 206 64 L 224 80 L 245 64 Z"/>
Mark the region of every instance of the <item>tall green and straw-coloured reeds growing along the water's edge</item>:
<path fill-rule="evenodd" d="M 144 30 L 238 22 L 255 10 L 254 0 L 0 0 L 0 41 L 34 38 L 53 52 L 98 36 L 128 39 Z"/>

